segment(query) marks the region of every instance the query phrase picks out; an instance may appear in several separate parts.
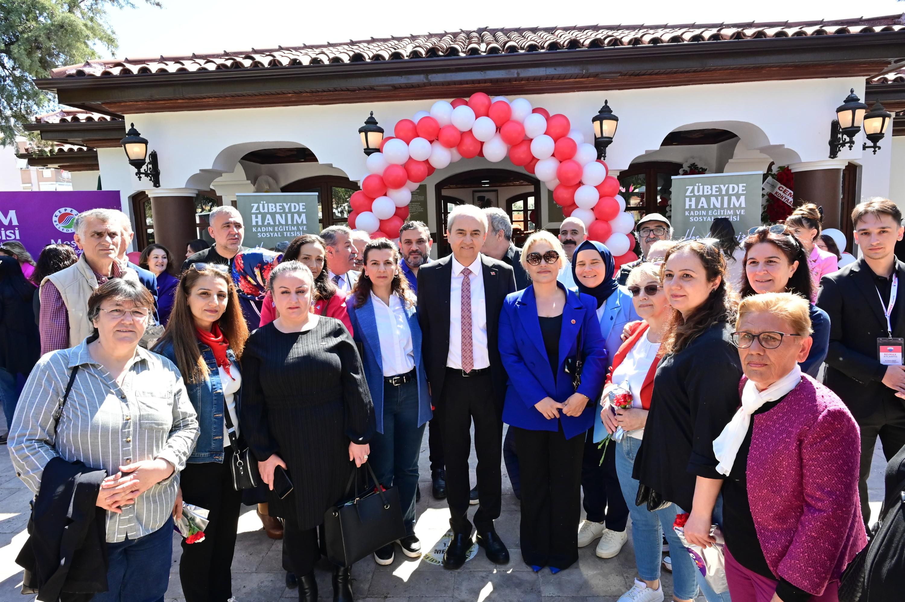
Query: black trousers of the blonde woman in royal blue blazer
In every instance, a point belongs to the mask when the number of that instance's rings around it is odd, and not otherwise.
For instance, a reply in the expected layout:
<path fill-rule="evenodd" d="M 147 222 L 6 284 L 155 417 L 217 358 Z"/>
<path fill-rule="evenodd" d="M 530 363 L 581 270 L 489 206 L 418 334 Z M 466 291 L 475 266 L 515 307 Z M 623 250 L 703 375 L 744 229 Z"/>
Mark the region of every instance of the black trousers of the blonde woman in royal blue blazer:
<path fill-rule="evenodd" d="M 584 437 L 567 439 L 561 425 L 556 432 L 510 425 L 513 430 L 521 473 L 521 558 L 566 569 L 578 559 Z"/>

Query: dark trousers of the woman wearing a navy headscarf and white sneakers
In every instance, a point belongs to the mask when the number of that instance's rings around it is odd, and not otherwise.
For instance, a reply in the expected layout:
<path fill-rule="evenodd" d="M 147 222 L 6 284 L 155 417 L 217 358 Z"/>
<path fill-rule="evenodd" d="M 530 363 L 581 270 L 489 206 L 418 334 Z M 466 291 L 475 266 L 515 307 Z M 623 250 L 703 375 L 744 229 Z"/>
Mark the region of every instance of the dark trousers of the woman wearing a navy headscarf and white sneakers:
<path fill-rule="evenodd" d="M 582 503 L 588 521 L 605 522 L 607 529 L 622 531 L 628 522 L 628 506 L 616 476 L 616 445 L 611 441 L 606 447 L 603 465 L 600 459 L 604 450 L 597 449 L 597 445 L 591 428 L 587 431 L 585 457 L 581 463 L 581 488 L 585 491 Z"/>

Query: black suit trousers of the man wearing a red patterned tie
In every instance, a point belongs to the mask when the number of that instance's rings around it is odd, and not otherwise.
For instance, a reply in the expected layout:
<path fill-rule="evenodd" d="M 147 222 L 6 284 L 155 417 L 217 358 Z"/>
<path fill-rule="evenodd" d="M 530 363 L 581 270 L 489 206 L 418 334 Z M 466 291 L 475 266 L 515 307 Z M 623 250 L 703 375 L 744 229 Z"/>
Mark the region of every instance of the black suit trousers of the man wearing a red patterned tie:
<path fill-rule="evenodd" d="M 443 456 L 446 462 L 446 502 L 450 507 L 450 526 L 455 533 L 471 535 L 468 520 L 468 456 L 472 453 L 472 420 L 474 451 L 478 454 L 478 490 L 481 505 L 474 514 L 479 532 L 493 530 L 500 517 L 502 472 L 502 406 L 493 394 L 490 371 L 463 377 L 462 370 L 446 370 L 443 385 Z"/>

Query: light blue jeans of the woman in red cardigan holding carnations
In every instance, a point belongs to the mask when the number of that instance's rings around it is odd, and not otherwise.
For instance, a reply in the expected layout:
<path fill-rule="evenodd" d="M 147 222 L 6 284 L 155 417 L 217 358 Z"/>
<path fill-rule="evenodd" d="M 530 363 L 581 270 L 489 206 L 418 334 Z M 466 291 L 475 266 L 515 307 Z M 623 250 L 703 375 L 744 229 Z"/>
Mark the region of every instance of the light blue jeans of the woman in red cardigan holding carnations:
<path fill-rule="evenodd" d="M 622 441 L 610 442 L 610 445 L 616 446 L 616 474 L 632 517 L 634 562 L 638 567 L 639 577 L 647 581 L 660 578 L 662 536 L 665 535 L 670 544 L 672 591 L 675 597 L 685 600 L 697 597 L 696 576 L 699 571 L 691 556 L 685 552 L 679 536 L 672 530 L 672 522 L 675 521 L 679 508 L 673 503 L 662 510 L 651 512 L 646 506 L 636 506 L 634 503 L 638 495 L 638 482 L 632 478 L 632 469 L 635 455 L 641 447 L 641 439 L 625 435 Z"/>

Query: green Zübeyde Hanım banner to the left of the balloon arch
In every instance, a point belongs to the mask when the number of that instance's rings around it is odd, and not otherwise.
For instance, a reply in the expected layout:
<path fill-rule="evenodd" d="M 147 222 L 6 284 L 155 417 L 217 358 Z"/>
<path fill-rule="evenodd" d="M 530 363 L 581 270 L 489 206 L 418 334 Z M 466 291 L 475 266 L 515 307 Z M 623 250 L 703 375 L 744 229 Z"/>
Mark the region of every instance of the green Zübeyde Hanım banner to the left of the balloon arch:
<path fill-rule="evenodd" d="M 245 222 L 244 246 L 271 249 L 301 234 L 320 234 L 316 192 L 250 192 L 235 201 Z"/>

